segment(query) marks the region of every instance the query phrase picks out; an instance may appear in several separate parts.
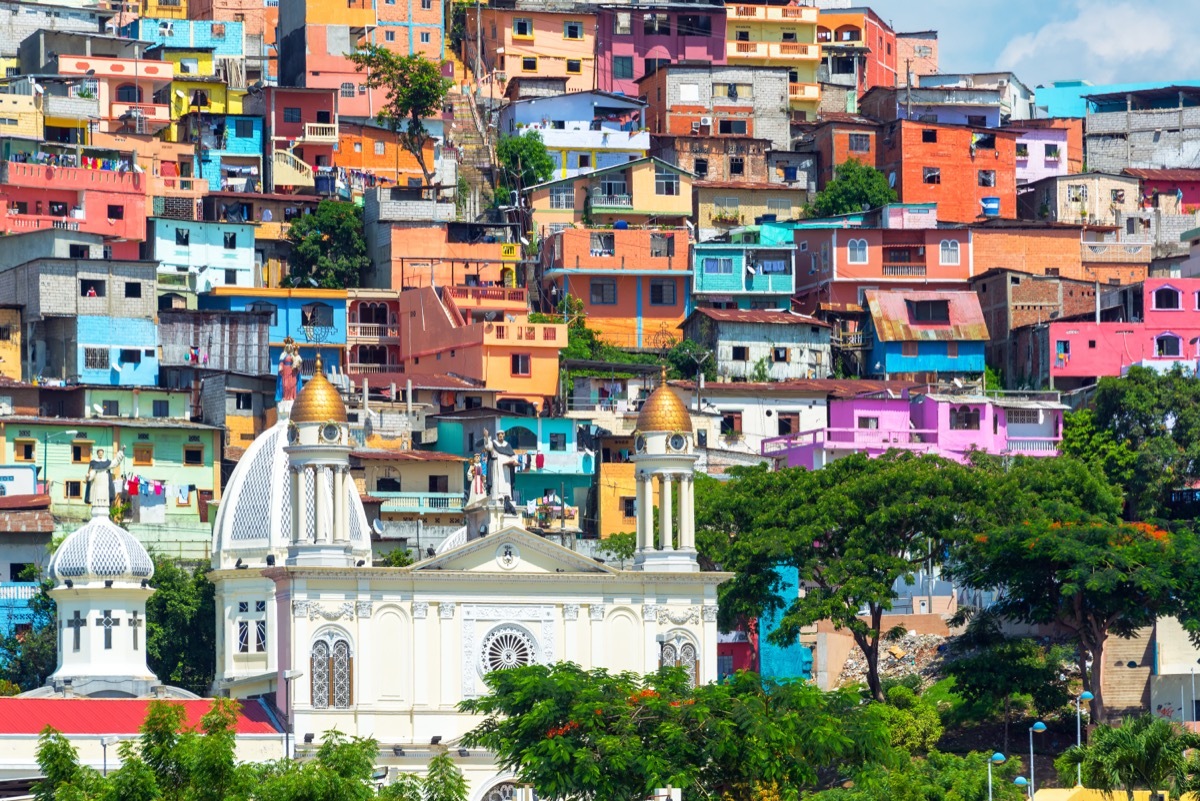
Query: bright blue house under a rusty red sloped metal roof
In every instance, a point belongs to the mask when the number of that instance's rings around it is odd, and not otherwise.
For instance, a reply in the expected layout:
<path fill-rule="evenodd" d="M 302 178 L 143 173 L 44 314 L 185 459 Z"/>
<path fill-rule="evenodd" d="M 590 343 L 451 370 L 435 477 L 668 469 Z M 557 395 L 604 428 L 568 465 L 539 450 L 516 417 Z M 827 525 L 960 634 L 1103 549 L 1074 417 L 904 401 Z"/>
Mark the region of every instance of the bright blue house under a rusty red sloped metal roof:
<path fill-rule="evenodd" d="M 988 324 L 974 293 L 868 290 L 864 295 L 870 375 L 925 380 L 984 372 Z"/>

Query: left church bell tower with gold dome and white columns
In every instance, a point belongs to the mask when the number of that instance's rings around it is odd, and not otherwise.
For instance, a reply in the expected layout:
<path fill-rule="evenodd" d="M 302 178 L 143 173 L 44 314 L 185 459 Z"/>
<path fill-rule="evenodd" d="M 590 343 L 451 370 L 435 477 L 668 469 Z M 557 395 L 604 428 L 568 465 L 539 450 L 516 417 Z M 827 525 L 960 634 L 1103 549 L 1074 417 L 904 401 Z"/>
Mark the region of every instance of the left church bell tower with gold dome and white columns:
<path fill-rule="evenodd" d="M 288 423 L 292 544 L 287 564 L 353 567 L 348 488 L 350 429 L 346 404 L 317 356 L 312 379 L 296 396 Z"/>

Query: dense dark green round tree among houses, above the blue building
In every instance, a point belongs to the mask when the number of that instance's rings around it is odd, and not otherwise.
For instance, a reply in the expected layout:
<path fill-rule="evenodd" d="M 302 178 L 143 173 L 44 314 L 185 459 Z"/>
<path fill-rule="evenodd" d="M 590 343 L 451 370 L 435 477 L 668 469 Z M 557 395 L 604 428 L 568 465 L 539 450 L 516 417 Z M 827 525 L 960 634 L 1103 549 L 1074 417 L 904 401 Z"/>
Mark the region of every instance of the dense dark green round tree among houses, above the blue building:
<path fill-rule="evenodd" d="M 295 287 L 359 287 L 362 271 L 371 265 L 362 210 L 353 203 L 322 200 L 314 213 L 292 221 L 288 241 L 288 279 Z"/>

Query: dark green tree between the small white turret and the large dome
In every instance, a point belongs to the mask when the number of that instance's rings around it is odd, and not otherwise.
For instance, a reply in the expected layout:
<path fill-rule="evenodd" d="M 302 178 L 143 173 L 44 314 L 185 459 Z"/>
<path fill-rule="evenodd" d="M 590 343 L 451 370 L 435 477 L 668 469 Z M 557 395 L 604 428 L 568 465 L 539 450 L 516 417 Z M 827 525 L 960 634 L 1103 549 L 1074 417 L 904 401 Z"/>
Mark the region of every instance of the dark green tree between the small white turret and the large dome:
<path fill-rule="evenodd" d="M 150 585 L 146 663 L 162 681 L 206 694 L 216 671 L 216 601 L 208 566 L 187 568 L 155 555 Z"/>

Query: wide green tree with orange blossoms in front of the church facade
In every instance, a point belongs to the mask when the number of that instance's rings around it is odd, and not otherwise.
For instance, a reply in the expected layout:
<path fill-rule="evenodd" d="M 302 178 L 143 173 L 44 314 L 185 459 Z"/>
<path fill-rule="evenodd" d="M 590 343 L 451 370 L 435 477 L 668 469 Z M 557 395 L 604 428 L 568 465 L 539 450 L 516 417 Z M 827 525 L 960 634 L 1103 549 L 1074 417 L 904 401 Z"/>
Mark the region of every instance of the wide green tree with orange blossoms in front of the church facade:
<path fill-rule="evenodd" d="M 655 788 L 750 801 L 793 801 L 835 781 L 844 764 L 890 757 L 877 707 L 752 674 L 689 686 L 677 668 L 644 677 L 570 664 L 498 670 L 490 693 L 463 701 L 486 719 L 467 747 L 497 755 L 540 797 L 642 801 Z"/>

